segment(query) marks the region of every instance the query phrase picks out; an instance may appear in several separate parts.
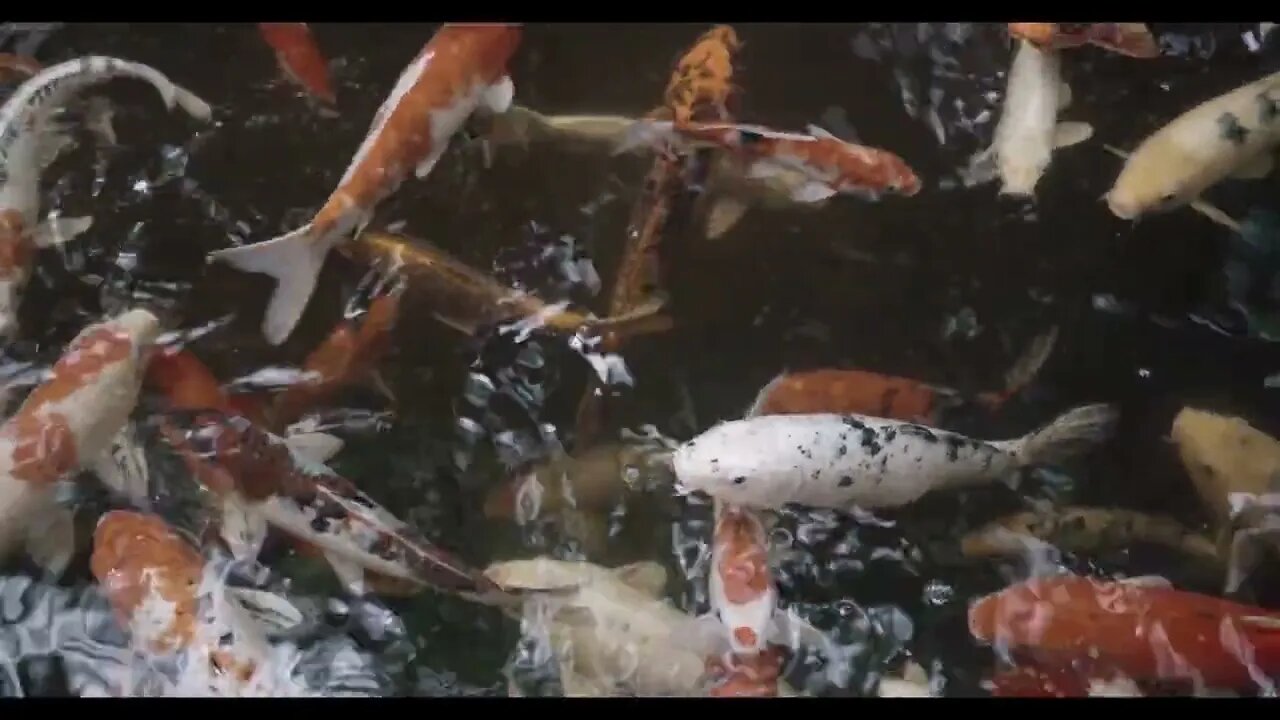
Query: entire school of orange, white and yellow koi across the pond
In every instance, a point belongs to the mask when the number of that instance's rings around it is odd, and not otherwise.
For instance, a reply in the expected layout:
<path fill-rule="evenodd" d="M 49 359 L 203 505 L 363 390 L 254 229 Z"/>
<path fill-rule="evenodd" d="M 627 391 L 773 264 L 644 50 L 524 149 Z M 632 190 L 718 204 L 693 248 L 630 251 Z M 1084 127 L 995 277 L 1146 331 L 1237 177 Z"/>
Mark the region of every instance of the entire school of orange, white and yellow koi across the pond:
<path fill-rule="evenodd" d="M 1271 27 L 1261 23 L 1260 36 Z M 998 181 L 998 195 L 1034 204 L 1057 151 L 1101 145 L 1096 136 L 1107 131 L 1073 108 L 1066 78 L 1083 82 L 1069 72 L 1076 55 L 1092 47 L 1140 64 L 1161 56 L 1162 46 L 1143 23 L 1000 29 L 1009 53 L 998 119 L 989 145 L 957 177 L 963 192 Z M 349 87 L 326 59 L 338 50 L 337 36 L 320 42 L 307 23 L 259 23 L 256 37 L 306 96 L 307 111 L 352 113 Z M 269 278 L 265 306 L 244 311 L 255 337 L 237 341 L 261 354 L 292 347 L 303 318 L 326 311 L 312 299 L 332 259 L 364 272 L 342 316 L 329 319 L 333 329 L 298 368 L 264 368 L 255 373 L 259 384 L 224 379 L 198 350 L 204 334 L 224 332 L 216 323 L 196 327 L 172 302 L 134 293 L 86 322 L 46 368 L 24 382 L 10 378 L 0 392 L 0 561 L 29 571 L 0 575 L 0 689 L 24 694 L 19 665 L 58 657 L 69 691 L 86 697 L 392 694 L 379 652 L 325 625 L 334 614 L 348 624 L 361 614 L 390 614 L 379 598 L 465 602 L 495 614 L 495 623 L 518 626 L 522 647 L 539 648 L 534 657 L 557 678 L 553 694 L 566 697 L 799 697 L 823 683 L 849 689 L 856 646 L 824 629 L 804 610 L 796 584 L 783 580 L 780 557 L 791 543 L 782 538 L 794 516 L 909 525 L 913 506 L 1070 473 L 1116 436 L 1120 410 L 1108 402 L 1046 407 L 1030 420 L 1006 413 L 1029 406 L 1020 401 L 1059 350 L 1057 327 L 1028 333 L 1021 352 L 1009 354 L 1002 386 L 986 391 L 870 368 L 785 366 L 740 416 L 699 423 L 690 413 L 687 437 L 618 427 L 605 388 L 632 382 L 622 351 L 680 324 L 658 261 L 671 254 L 675 228 L 731 242 L 753 209 L 910 208 L 938 183 L 911 167 L 910 149 L 868 145 L 818 123 L 740 119 L 750 105 L 737 102 L 746 90 L 735 67 L 750 50 L 730 26 L 696 37 L 675 64 L 662 104 L 645 114 L 553 114 L 524 104 L 521 61 L 541 51 L 525 41 L 517 23 L 439 26 L 404 58 L 398 77 L 383 78 L 384 100 L 357 146 L 312 149 L 349 152 L 349 161 L 305 222 L 283 224 L 275 237 L 228 234 L 207 255 L 209 266 Z M 55 163 L 82 141 L 119 145 L 118 104 L 91 92 L 118 78 L 150 86 L 166 110 L 182 111 L 174 122 L 188 132 L 232 122 L 229 109 L 141 61 L 86 55 L 46 64 L 0 54 L 0 82 L 14 86 L 0 105 L 6 354 L 35 336 L 28 323 L 44 319 L 23 311 L 40 256 L 96 237 L 101 218 L 63 217 L 49 208 L 45 187 Z M 518 161 L 535 143 L 602 161 L 640 155 L 653 163 L 603 315 L 379 220 L 378 209 L 393 197 L 420 197 L 438 168 L 471 161 L 471 147 L 483 150 L 488 168 L 499 151 Z M 1239 231 L 1203 196 L 1230 179 L 1268 176 L 1277 147 L 1280 73 L 1262 74 L 1188 104 L 1132 150 L 1107 146 L 1123 167 L 1101 204 L 1082 204 L 1124 220 L 1187 206 Z M 570 251 L 550 255 L 540 260 L 595 290 L 602 284 Z M 384 406 L 364 418 L 367 425 L 399 421 L 410 398 L 384 373 L 397 338 L 430 324 L 412 323 L 419 309 L 477 343 L 494 333 L 538 332 L 589 365 L 576 432 L 564 436 L 573 442 L 557 441 L 540 460 L 506 464 L 481 502 L 462 511 L 483 510 L 486 521 L 526 530 L 558 527 L 577 547 L 572 557 L 481 566 L 474 547 L 438 539 L 402 500 L 362 487 L 371 478 L 335 469 L 346 468 L 343 456 L 361 437 L 358 419 L 333 419 L 348 410 L 346 393 L 371 391 Z M 535 370 L 541 363 L 524 360 Z M 499 391 L 475 368 L 461 370 L 470 373 L 466 395 L 479 419 L 454 409 L 460 432 L 498 421 L 495 397 L 532 402 L 529 392 Z M 273 383 L 275 392 L 262 389 Z M 963 413 L 1011 429 L 959 432 L 952 421 Z M 1166 455 L 1184 468 L 1210 516 L 1208 533 L 1161 515 L 1068 502 L 948 529 L 952 556 L 1020 560 L 1025 571 L 968 605 L 969 635 L 992 651 L 982 687 L 995 697 L 1274 697 L 1280 609 L 1254 605 L 1262 601 L 1248 593 L 1280 559 L 1280 439 L 1254 424 L 1184 407 L 1169 428 Z M 600 562 L 617 559 L 612 518 L 637 496 L 671 503 L 705 530 L 686 568 L 698 584 L 694 601 L 673 598 L 660 562 Z M 1057 561 L 1138 544 L 1208 568 L 1215 592 Z M 828 552 L 846 553 L 847 543 Z M 275 562 L 285 555 L 325 569 L 340 600 L 300 593 L 291 578 L 298 565 Z M 74 570 L 81 565 L 87 571 Z M 72 577 L 87 580 L 70 588 Z M 899 651 L 890 660 L 897 670 L 882 664 L 854 694 L 950 694 L 922 659 Z M 529 693 L 516 665 L 503 671 L 513 697 Z M 796 673 L 801 666 L 819 670 Z"/>

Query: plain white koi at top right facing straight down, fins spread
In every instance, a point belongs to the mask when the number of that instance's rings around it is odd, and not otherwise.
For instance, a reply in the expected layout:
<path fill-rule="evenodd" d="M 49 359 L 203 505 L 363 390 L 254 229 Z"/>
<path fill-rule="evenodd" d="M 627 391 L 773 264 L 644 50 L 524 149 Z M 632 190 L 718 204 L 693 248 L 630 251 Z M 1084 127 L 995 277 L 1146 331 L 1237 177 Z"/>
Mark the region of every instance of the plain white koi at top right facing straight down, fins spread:
<path fill-rule="evenodd" d="M 1001 195 L 1030 197 L 1048 169 L 1053 150 L 1084 142 L 1093 135 L 1087 123 L 1057 120 L 1071 102 L 1062 81 L 1061 58 L 1020 40 L 1009 70 L 1005 101 L 991 147 L 973 158 L 965 184 L 1000 178 Z"/>

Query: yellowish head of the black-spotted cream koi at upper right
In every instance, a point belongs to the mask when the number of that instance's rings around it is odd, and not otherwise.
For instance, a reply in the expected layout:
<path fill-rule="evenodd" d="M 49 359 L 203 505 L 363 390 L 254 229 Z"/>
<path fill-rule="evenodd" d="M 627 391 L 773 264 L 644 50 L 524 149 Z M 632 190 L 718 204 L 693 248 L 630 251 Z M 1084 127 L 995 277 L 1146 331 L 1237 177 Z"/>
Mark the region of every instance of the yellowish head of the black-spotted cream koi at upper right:
<path fill-rule="evenodd" d="M 1105 199 L 1111 214 L 1134 220 L 1185 205 L 1204 190 L 1204 161 L 1153 136 L 1125 161 Z"/>

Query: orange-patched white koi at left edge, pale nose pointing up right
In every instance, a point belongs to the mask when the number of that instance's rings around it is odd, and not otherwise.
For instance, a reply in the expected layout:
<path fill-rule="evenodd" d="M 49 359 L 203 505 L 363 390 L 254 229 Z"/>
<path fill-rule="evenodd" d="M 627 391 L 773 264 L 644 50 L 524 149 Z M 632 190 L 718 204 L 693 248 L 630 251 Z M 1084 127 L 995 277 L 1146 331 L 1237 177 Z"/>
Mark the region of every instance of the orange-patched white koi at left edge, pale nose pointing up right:
<path fill-rule="evenodd" d="M 131 310 L 90 325 L 51 375 L 0 427 L 0 552 L 19 542 L 60 573 L 74 551 L 70 512 L 54 483 L 86 470 L 128 423 L 160 322 Z"/>

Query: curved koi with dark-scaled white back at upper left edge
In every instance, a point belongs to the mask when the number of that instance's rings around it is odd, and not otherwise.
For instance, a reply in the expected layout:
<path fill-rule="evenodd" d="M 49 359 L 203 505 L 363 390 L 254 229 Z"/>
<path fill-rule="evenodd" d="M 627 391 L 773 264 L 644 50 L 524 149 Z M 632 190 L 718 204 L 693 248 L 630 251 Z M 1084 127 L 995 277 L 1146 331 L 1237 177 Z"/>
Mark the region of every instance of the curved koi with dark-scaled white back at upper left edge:
<path fill-rule="evenodd" d="M 17 331 L 17 307 L 36 251 L 67 242 L 92 224 L 88 217 L 50 218 L 37 224 L 41 174 L 73 142 L 56 113 L 88 87 L 119 77 L 151 85 L 169 109 L 182 108 L 198 120 L 212 115 L 207 102 L 160 70 L 116 58 L 59 63 L 37 72 L 9 96 L 0 108 L 0 337 Z M 101 113 L 91 124 L 109 140 L 114 137 L 110 120 Z"/>

